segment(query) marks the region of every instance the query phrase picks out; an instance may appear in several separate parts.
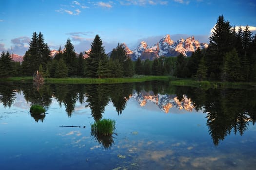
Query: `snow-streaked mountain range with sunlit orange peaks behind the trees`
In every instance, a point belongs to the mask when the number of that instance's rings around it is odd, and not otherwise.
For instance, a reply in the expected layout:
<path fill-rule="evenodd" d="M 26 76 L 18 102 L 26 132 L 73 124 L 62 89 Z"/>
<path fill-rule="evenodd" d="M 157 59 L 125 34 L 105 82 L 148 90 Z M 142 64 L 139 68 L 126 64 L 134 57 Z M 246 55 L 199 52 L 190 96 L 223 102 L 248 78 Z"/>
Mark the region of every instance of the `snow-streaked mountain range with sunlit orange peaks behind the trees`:
<path fill-rule="evenodd" d="M 170 35 L 167 34 L 162 37 L 159 42 L 155 45 L 149 47 L 145 41 L 142 41 L 135 49 L 131 50 L 125 43 L 122 43 L 123 47 L 127 52 L 127 55 L 133 60 L 137 60 L 140 57 L 141 60 L 154 60 L 155 58 L 159 58 L 160 56 L 165 57 L 175 57 L 182 53 L 185 56 L 191 56 L 193 52 L 195 52 L 198 48 L 204 49 L 208 47 L 207 43 L 200 43 L 198 40 L 195 40 L 194 36 L 188 37 L 186 39 L 179 39 L 177 41 L 173 41 L 170 38 Z M 51 56 L 54 57 L 59 51 L 53 49 L 51 51 Z M 87 51 L 83 51 L 83 57 L 87 58 L 90 49 Z M 79 56 L 78 53 L 76 53 Z M 108 56 L 111 55 L 111 52 L 108 53 Z M 23 61 L 23 56 L 13 54 L 14 61 Z"/>

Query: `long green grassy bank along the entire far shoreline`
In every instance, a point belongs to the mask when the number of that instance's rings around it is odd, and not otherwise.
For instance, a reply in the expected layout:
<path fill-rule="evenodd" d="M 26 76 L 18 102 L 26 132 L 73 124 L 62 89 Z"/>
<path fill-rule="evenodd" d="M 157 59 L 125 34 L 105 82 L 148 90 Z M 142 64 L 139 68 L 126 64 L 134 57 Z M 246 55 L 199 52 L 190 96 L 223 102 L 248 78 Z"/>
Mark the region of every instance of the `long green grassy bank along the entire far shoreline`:
<path fill-rule="evenodd" d="M 1 78 L 0 82 L 32 82 L 33 77 L 10 77 Z M 46 78 L 46 83 L 57 84 L 103 84 L 103 83 L 132 83 L 145 82 L 151 80 L 169 81 L 170 85 L 192 86 L 204 89 L 208 88 L 256 88 L 256 82 L 217 82 L 217 81 L 197 81 L 195 79 L 181 79 L 170 76 L 143 76 L 135 75 L 130 78 Z"/>

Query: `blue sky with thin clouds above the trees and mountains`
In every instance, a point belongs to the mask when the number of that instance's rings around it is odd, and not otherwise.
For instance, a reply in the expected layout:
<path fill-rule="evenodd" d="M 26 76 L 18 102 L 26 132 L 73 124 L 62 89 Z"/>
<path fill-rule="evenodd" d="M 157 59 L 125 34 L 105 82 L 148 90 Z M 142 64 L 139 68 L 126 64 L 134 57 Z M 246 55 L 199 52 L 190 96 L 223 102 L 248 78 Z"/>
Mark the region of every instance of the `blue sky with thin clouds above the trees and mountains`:
<path fill-rule="evenodd" d="M 0 51 L 24 55 L 33 32 L 42 32 L 51 49 L 70 38 L 78 53 L 96 34 L 106 52 L 118 42 L 151 46 L 166 34 L 208 43 L 219 15 L 256 32 L 255 0 L 0 0 Z"/>

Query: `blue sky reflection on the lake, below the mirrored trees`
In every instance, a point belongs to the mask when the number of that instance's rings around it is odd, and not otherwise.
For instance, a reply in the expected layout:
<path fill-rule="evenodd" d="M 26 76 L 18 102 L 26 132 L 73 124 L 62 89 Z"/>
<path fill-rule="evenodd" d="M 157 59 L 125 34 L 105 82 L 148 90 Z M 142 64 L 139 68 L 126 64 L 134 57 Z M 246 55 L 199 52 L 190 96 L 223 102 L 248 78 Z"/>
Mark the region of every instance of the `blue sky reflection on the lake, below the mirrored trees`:
<path fill-rule="evenodd" d="M 103 118 L 116 120 L 114 144 L 102 149 L 90 136 L 91 111 L 77 101 L 68 117 L 53 99 L 44 122 L 29 115 L 17 95 L 11 108 L 0 105 L 0 169 L 232 169 L 255 168 L 256 126 L 226 136 L 214 147 L 206 114 L 171 108 L 169 114 L 148 102 L 130 99 L 121 115 L 109 102 Z M 176 113 L 176 114 L 170 114 Z M 186 114 L 180 114 L 186 113 Z M 68 128 L 59 126 L 86 126 Z M 29 160 L 29 162 L 28 162 Z"/>

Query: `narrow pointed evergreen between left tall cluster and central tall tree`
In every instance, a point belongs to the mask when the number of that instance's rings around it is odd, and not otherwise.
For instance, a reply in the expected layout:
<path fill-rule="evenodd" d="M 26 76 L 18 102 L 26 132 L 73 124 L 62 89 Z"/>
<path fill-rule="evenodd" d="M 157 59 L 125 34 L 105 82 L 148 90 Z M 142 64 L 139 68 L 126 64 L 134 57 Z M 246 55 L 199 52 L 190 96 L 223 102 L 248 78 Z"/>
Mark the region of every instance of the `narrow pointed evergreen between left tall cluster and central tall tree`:
<path fill-rule="evenodd" d="M 68 67 L 68 75 L 69 76 L 76 75 L 77 74 L 77 57 L 74 50 L 74 46 L 71 43 L 71 40 L 69 38 L 67 39 L 63 56 L 66 62 L 66 66 Z"/>

